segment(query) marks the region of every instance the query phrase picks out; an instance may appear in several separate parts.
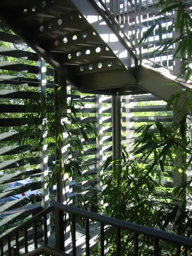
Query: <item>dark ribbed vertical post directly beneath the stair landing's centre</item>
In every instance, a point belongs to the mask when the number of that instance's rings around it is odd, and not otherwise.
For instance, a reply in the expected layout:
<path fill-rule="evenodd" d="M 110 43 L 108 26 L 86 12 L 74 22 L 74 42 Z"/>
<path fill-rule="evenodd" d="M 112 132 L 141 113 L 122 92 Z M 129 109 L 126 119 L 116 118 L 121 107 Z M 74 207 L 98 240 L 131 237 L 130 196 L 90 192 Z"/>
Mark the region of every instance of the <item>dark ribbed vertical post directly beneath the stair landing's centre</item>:
<path fill-rule="evenodd" d="M 112 96 L 112 142 L 113 142 L 113 158 L 121 158 L 121 97 Z"/>

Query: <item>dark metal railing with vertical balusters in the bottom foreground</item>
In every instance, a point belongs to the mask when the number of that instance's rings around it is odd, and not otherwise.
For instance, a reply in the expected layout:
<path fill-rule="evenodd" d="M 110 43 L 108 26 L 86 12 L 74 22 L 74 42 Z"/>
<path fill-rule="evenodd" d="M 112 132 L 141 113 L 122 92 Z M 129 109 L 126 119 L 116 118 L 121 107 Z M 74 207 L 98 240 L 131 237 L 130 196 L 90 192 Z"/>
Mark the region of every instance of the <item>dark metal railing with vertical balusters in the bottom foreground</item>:
<path fill-rule="evenodd" d="M 47 233 L 47 214 L 54 210 L 55 214 L 55 238 L 56 238 L 56 249 L 54 249 L 54 253 L 50 253 L 46 250 L 51 247 L 48 245 L 48 233 Z M 23 223 L 22 225 L 16 227 L 10 233 L 5 234 L 0 238 L 0 255 L 4 255 L 3 242 L 8 240 L 8 256 L 11 256 L 11 237 L 15 236 L 16 241 L 16 256 L 19 256 L 19 231 L 25 230 L 25 253 L 28 253 L 28 241 L 27 241 L 27 227 L 33 224 L 33 232 L 34 232 L 34 246 L 36 251 L 30 252 L 27 255 L 40 255 L 39 253 L 44 250 L 47 255 L 66 255 L 65 253 L 61 254 L 61 252 L 65 252 L 65 234 L 64 234 L 64 216 L 66 213 L 69 214 L 70 226 L 71 226 L 71 237 L 72 237 L 72 255 L 76 256 L 76 218 L 82 217 L 85 220 L 85 245 L 86 245 L 86 256 L 90 255 L 90 228 L 89 222 L 96 221 L 100 223 L 100 253 L 101 256 L 105 255 L 105 231 L 106 225 L 115 227 L 117 230 L 116 233 L 116 255 L 121 255 L 121 230 L 127 230 L 134 234 L 134 255 L 139 255 L 139 235 L 145 235 L 147 237 L 152 237 L 154 241 L 154 255 L 158 256 L 160 253 L 159 242 L 165 241 L 176 246 L 176 255 L 180 255 L 181 246 L 185 249 L 185 255 L 188 255 L 188 250 L 192 248 L 192 239 L 184 236 L 178 236 L 176 234 L 168 233 L 165 231 L 152 229 L 149 227 L 140 226 L 134 223 L 121 221 L 119 219 L 114 219 L 107 217 L 105 215 L 96 214 L 94 212 L 82 210 L 76 207 L 67 206 L 60 203 L 53 203 L 51 206 L 46 208 L 44 211 L 39 212 L 37 215 L 32 217 L 29 221 Z M 38 238 L 37 238 L 37 221 L 43 218 L 44 225 L 44 246 L 38 248 Z M 53 249 L 52 249 L 53 250 Z M 57 251 L 59 250 L 59 251 Z M 36 253 L 36 254 L 35 254 Z M 60 253 L 60 254 L 59 254 Z"/>

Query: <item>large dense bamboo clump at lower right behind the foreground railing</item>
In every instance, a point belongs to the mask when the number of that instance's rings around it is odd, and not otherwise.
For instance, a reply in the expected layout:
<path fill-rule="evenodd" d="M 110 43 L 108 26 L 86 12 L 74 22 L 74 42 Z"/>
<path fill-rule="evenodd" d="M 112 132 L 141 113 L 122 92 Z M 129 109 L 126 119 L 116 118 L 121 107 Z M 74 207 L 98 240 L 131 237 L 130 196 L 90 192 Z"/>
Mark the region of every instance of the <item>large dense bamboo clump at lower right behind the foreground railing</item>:
<path fill-rule="evenodd" d="M 183 93 L 180 90 L 172 95 L 166 109 Z M 191 102 L 187 104 L 192 113 Z M 123 147 L 121 159 L 112 156 L 106 159 L 100 171 L 103 191 L 93 193 L 91 199 L 84 197 L 87 210 L 91 210 L 95 200 L 94 211 L 109 217 L 192 237 L 192 214 L 187 205 L 192 201 L 192 181 L 186 178 L 192 162 L 191 125 L 187 125 L 191 123 L 191 117 L 177 114 L 178 118 L 172 124 L 151 122 L 140 126 L 136 131 L 139 136 L 133 145 L 133 156 Z M 173 172 L 180 173 L 182 181 L 170 187 L 167 181 L 172 180 Z M 100 206 L 98 200 L 102 202 Z M 76 206 L 84 208 L 80 201 Z M 132 232 L 121 231 L 121 255 L 133 255 L 133 241 Z M 106 228 L 105 242 L 106 255 L 116 255 L 116 230 L 112 227 Z M 162 255 L 176 255 L 174 245 L 159 241 L 159 248 Z M 96 244 L 93 255 L 99 249 Z M 184 248 L 181 251 L 181 255 L 185 255 Z M 139 255 L 154 255 L 152 238 L 139 234 Z"/>

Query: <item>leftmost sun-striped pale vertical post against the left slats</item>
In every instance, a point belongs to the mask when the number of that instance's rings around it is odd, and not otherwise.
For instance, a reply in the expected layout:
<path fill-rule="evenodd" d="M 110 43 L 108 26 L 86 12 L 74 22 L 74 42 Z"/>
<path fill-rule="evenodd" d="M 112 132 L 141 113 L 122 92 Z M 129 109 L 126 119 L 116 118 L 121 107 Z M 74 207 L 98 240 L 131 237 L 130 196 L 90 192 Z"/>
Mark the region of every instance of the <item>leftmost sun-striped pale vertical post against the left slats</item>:
<path fill-rule="evenodd" d="M 39 93 L 45 93 L 46 92 L 46 67 L 45 67 L 45 60 L 41 58 L 41 56 L 38 57 L 38 92 Z M 46 124 L 46 116 L 44 119 L 44 125 Z M 41 127 L 40 127 L 41 128 Z M 48 181 L 48 155 L 47 155 L 47 145 L 46 145 L 46 136 L 47 133 L 45 131 L 43 132 L 44 137 L 44 145 L 42 147 L 42 151 L 40 152 L 40 169 L 42 172 L 41 175 L 41 205 L 42 208 L 47 208 L 49 206 L 49 189 L 46 187 L 46 182 Z M 50 220 L 49 220 L 49 214 L 47 215 L 47 223 L 46 223 L 46 229 L 48 237 L 50 236 Z M 44 225 L 43 225 L 44 230 Z"/>

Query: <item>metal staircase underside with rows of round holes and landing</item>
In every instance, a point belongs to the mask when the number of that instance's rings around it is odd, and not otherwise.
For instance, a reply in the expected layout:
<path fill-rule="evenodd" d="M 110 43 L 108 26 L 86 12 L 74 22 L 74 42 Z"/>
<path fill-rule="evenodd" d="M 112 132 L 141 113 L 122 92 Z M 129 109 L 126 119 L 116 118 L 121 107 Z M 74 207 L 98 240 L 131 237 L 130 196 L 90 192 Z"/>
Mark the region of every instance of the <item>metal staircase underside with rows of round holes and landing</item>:
<path fill-rule="evenodd" d="M 99 3 L 104 10 L 94 0 L 1 0 L 0 19 L 82 92 L 167 101 L 173 80 L 138 66 L 134 45 Z"/>

